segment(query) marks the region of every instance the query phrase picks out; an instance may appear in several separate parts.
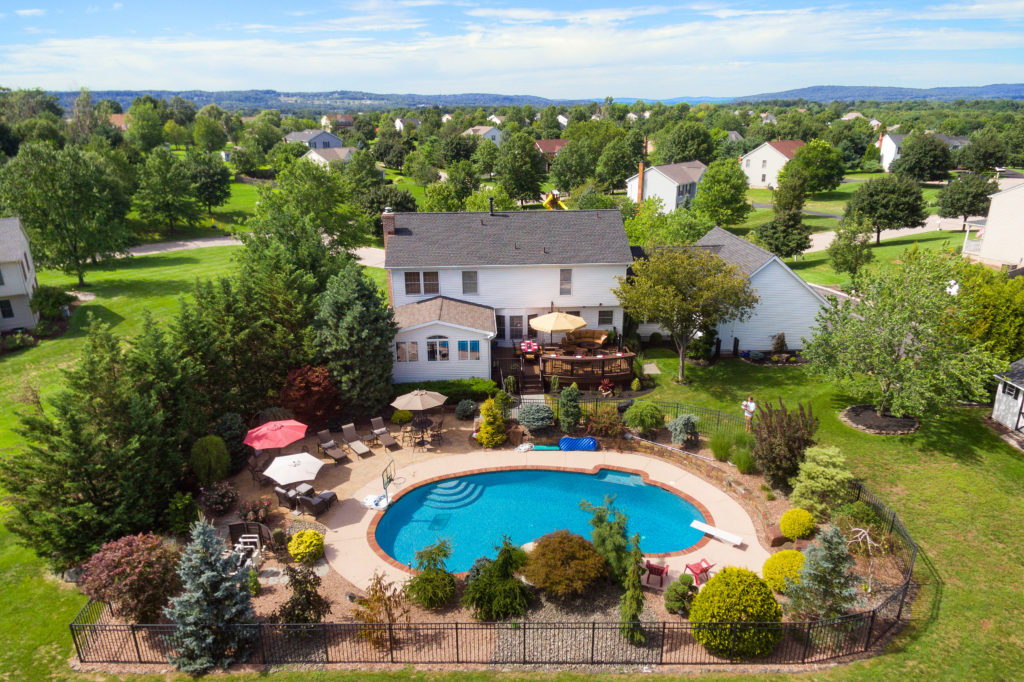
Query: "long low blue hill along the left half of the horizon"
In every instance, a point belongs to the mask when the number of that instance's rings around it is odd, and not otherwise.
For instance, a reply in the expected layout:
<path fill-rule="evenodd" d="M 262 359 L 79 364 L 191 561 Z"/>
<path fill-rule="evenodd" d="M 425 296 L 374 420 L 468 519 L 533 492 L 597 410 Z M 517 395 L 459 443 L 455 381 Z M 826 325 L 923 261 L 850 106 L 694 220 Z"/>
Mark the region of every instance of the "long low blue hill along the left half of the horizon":
<path fill-rule="evenodd" d="M 72 111 L 78 92 L 54 92 L 65 111 Z M 530 104 L 543 109 L 548 104 L 574 104 L 589 99 L 547 99 L 534 95 L 505 95 L 467 92 L 451 95 L 378 94 L 356 90 L 328 92 L 278 92 L 276 90 L 92 90 L 92 100 L 116 99 L 124 109 L 140 95 L 170 99 L 175 95 L 190 99 L 199 106 L 218 104 L 226 110 L 257 112 L 276 109 L 283 113 L 301 112 L 365 112 L 417 106 L 511 106 Z"/>

